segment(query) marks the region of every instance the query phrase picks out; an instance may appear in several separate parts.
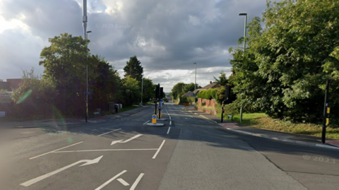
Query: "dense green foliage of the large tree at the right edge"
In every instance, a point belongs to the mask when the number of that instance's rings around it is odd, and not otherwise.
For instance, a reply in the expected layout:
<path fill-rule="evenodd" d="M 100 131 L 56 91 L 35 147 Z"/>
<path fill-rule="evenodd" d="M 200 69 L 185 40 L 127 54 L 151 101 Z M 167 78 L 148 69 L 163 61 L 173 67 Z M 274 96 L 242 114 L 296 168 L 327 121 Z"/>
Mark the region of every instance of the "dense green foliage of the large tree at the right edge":
<path fill-rule="evenodd" d="M 334 11 L 335 10 L 335 11 Z M 249 23 L 249 50 L 230 49 L 234 93 L 271 117 L 320 122 L 331 78 L 331 117 L 339 116 L 339 1 L 284 0 Z"/>

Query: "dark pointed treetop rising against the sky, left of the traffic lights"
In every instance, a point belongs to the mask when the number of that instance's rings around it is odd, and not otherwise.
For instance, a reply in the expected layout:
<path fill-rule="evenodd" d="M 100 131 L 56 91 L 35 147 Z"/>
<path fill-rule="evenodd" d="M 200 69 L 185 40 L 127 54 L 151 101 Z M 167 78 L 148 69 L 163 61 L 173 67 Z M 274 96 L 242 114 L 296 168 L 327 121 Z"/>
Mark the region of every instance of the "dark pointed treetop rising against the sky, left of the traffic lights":
<path fill-rule="evenodd" d="M 131 57 L 129 61 L 126 62 L 124 71 L 125 77 L 131 76 L 131 78 L 136 78 L 136 81 L 141 82 L 141 79 L 143 77 L 143 67 L 141 66 L 141 62 L 136 58 L 136 56 Z"/>

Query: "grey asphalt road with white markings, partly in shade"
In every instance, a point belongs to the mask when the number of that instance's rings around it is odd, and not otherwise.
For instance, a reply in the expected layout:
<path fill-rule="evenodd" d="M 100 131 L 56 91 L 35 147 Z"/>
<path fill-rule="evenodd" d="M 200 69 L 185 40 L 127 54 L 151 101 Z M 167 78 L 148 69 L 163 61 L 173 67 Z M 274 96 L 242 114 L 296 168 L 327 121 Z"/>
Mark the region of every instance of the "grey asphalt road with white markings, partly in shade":
<path fill-rule="evenodd" d="M 162 107 L 60 128 L 6 129 L 0 189 L 338 189 L 339 152 L 246 136 Z M 4 141 L 6 139 L 6 141 Z"/>

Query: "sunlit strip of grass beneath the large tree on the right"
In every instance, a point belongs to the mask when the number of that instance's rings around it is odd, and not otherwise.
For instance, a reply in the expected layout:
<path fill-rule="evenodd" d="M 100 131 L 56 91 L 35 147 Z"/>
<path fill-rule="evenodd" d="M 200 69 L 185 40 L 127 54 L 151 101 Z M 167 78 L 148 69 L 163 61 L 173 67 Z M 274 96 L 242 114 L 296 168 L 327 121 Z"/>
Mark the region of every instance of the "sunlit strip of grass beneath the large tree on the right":
<path fill-rule="evenodd" d="M 227 119 L 227 116 L 225 118 Z M 240 124 L 239 114 L 234 115 L 233 121 Z M 279 119 L 272 119 L 263 113 L 243 114 L 241 124 L 271 131 L 321 136 L 321 125 L 296 124 L 290 121 L 281 121 Z M 327 127 L 326 138 L 339 139 L 339 129 Z"/>

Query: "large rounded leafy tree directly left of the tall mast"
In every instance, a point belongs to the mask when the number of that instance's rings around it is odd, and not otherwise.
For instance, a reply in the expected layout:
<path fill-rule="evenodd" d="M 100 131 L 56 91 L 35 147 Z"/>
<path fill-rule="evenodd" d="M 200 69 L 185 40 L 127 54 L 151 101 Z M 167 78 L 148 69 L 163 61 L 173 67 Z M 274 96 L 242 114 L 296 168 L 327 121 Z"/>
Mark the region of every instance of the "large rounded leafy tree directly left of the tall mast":
<path fill-rule="evenodd" d="M 51 45 L 40 53 L 44 66 L 44 78 L 57 85 L 60 96 L 56 105 L 62 114 L 83 114 L 85 109 L 86 84 L 86 42 L 81 36 L 73 37 L 67 33 L 49 38 Z M 92 67 L 93 68 L 93 67 Z M 89 69 L 89 79 L 93 78 L 93 69 Z"/>

